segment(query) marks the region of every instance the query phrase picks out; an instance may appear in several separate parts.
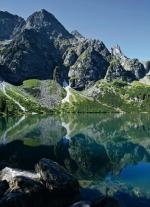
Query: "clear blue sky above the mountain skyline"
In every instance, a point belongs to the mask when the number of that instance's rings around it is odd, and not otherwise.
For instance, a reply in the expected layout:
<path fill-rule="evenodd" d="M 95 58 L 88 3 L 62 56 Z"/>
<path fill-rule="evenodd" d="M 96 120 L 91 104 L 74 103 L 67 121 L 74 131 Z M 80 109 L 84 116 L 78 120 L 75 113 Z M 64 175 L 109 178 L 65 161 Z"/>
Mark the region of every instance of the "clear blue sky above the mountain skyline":
<path fill-rule="evenodd" d="M 129 57 L 150 60 L 150 0 L 0 0 L 0 10 L 27 18 L 46 9 L 72 31 L 119 44 Z"/>

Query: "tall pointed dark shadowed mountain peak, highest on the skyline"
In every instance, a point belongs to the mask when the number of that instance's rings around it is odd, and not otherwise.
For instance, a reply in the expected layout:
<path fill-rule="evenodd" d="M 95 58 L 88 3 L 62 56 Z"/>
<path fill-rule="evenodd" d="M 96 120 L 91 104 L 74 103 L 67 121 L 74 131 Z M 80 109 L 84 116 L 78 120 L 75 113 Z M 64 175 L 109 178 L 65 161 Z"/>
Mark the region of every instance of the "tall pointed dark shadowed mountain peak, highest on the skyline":
<path fill-rule="evenodd" d="M 4 70 L 0 76 L 14 84 L 30 78 L 53 79 L 55 66 L 62 65 L 56 43 L 62 45 L 64 38 L 72 37 L 52 14 L 45 10 L 35 12 L 12 42 L 1 48 L 0 64 Z"/>

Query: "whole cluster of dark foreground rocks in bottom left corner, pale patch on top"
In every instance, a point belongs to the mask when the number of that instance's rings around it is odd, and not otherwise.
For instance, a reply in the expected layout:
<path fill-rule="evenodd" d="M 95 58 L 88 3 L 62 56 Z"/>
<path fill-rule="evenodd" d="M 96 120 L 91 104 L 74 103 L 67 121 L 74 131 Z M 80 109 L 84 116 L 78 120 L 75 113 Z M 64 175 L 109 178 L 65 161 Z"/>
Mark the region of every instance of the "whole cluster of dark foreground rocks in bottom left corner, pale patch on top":
<path fill-rule="evenodd" d="M 0 206 L 63 207 L 76 201 L 78 181 L 59 164 L 42 159 L 36 165 L 36 172 L 3 169 L 0 173 Z"/>

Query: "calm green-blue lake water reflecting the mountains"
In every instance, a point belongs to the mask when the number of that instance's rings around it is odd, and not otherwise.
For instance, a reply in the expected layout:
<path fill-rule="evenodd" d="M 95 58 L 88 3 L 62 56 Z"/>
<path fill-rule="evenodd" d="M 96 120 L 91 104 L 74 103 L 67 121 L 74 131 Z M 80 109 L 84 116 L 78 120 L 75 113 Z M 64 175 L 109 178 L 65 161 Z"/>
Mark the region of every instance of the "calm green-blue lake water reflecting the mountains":
<path fill-rule="evenodd" d="M 0 169 L 64 165 L 83 199 L 108 191 L 121 206 L 150 206 L 150 115 L 65 114 L 0 118 Z"/>

